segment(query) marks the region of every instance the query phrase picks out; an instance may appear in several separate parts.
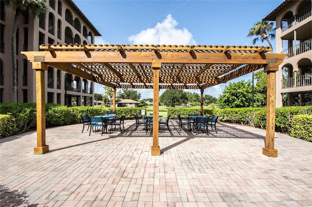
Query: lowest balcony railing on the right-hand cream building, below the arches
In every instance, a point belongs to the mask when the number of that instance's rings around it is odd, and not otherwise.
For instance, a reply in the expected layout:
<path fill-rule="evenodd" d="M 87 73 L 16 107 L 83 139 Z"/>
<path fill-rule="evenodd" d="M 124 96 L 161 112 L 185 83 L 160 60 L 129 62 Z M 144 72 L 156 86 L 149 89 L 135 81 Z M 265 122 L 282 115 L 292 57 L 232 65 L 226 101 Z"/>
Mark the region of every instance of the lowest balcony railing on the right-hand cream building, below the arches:
<path fill-rule="evenodd" d="M 299 75 L 296 78 L 283 78 L 282 88 L 312 86 L 312 74 Z"/>

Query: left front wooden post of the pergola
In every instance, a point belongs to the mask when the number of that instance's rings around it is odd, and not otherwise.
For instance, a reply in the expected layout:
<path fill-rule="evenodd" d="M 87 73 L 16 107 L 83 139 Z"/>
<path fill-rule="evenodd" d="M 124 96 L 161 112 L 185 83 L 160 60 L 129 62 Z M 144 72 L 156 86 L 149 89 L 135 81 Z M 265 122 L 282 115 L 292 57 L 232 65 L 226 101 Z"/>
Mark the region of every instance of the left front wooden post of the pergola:
<path fill-rule="evenodd" d="M 44 70 L 48 66 L 42 62 L 33 62 L 36 69 L 36 106 L 37 106 L 37 147 L 34 148 L 35 155 L 49 152 L 49 145 L 45 144 L 45 81 Z"/>

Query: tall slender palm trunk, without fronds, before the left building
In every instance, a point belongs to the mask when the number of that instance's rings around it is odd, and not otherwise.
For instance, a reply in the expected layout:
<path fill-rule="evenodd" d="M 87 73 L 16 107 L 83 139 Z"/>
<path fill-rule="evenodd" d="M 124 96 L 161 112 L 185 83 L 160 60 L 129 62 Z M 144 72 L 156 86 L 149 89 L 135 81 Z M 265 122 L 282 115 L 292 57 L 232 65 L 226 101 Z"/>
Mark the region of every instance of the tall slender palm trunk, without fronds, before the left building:
<path fill-rule="evenodd" d="M 21 13 L 16 13 L 16 18 L 12 31 L 12 102 L 18 102 L 18 90 L 17 90 L 17 60 L 16 60 L 16 32 L 20 24 Z"/>

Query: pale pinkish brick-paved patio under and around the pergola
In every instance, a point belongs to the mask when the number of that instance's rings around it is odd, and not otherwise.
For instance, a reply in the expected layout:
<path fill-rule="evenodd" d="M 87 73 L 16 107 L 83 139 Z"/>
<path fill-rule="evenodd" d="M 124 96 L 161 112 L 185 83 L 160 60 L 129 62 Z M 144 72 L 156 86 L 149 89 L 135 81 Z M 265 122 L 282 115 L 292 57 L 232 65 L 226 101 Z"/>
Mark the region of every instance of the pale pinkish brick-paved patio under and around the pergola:
<path fill-rule="evenodd" d="M 278 157 L 262 155 L 265 131 L 217 124 L 195 136 L 160 128 L 162 154 L 135 122 L 126 132 L 89 135 L 82 124 L 0 140 L 0 205 L 99 207 L 312 206 L 312 143 L 275 133 Z"/>

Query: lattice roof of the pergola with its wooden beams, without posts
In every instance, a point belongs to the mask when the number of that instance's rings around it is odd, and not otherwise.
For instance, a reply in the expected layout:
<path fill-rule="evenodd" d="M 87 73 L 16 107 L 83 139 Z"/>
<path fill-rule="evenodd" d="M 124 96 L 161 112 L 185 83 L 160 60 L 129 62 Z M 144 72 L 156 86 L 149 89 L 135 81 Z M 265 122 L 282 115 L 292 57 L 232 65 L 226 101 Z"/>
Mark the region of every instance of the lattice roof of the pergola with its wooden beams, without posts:
<path fill-rule="evenodd" d="M 113 88 L 153 88 L 152 64 L 161 63 L 159 88 L 204 89 L 263 68 L 272 56 L 263 46 L 64 44 L 40 50 L 28 60 L 44 57 L 39 62 Z"/>

